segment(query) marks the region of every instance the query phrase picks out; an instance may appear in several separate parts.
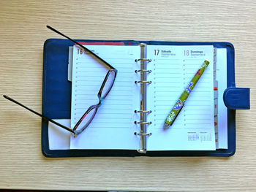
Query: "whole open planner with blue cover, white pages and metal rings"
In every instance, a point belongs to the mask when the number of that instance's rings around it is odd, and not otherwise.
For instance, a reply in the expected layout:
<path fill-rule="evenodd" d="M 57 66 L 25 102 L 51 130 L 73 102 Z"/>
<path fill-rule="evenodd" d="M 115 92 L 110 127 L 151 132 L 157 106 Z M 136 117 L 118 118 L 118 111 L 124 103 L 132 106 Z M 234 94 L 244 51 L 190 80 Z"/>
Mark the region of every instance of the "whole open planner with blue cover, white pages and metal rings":
<path fill-rule="evenodd" d="M 44 155 L 228 156 L 235 153 L 235 114 L 227 107 L 232 107 L 232 102 L 223 100 L 229 87 L 227 76 L 232 73 L 228 69 L 233 69 L 232 45 L 214 42 L 80 43 L 118 70 L 116 81 L 90 125 L 77 137 L 42 120 Z M 60 55 L 53 57 L 54 52 Z M 206 71 L 176 121 L 165 129 L 165 118 L 206 59 L 210 62 Z M 91 105 L 99 102 L 97 93 L 107 72 L 108 68 L 101 61 L 79 46 L 64 39 L 48 39 L 44 50 L 43 114 L 72 128 Z M 238 89 L 235 88 L 235 92 Z M 248 91 L 241 89 L 243 95 Z M 246 96 L 249 93 L 246 92 Z M 248 102 L 246 98 L 235 107 L 246 109 Z"/>

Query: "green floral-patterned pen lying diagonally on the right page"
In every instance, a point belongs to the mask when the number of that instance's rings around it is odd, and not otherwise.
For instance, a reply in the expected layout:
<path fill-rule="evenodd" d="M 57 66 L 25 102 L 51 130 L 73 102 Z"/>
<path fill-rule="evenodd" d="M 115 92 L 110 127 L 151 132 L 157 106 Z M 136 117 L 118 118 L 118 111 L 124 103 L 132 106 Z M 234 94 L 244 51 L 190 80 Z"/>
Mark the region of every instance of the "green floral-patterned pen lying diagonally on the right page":
<path fill-rule="evenodd" d="M 176 120 L 178 113 L 181 112 L 182 107 L 184 107 L 185 101 L 187 100 L 189 93 L 191 93 L 192 89 L 195 87 L 195 84 L 197 84 L 197 81 L 202 76 L 203 72 L 205 71 L 206 67 L 210 64 L 209 61 L 204 61 L 203 65 L 198 69 L 198 71 L 195 73 L 195 76 L 192 78 L 191 82 L 189 82 L 189 85 L 187 85 L 187 88 L 185 91 L 181 94 L 178 101 L 173 107 L 173 110 L 170 111 L 169 115 L 165 119 L 165 126 L 164 128 L 169 128 L 174 120 Z"/>

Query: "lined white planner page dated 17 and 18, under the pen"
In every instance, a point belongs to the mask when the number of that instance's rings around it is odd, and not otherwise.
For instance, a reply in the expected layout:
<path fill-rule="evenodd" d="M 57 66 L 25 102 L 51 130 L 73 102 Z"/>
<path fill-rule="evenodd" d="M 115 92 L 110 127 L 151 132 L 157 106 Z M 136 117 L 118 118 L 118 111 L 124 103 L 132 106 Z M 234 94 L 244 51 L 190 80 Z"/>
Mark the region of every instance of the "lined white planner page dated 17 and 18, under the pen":
<path fill-rule="evenodd" d="M 148 150 L 215 150 L 213 46 L 148 46 Z M 204 60 L 210 61 L 170 128 L 165 118 Z"/>

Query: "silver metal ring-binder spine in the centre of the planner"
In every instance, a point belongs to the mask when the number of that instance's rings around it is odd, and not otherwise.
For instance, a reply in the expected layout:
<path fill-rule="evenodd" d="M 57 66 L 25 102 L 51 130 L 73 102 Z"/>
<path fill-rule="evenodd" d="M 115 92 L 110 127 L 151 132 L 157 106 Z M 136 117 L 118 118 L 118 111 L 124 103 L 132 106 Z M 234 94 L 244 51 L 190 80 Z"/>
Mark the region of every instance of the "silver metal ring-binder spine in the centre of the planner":
<path fill-rule="evenodd" d="M 140 125 L 140 133 L 135 132 L 135 134 L 140 136 L 138 152 L 146 153 L 146 137 L 151 135 L 151 133 L 147 133 L 147 126 L 151 124 L 151 122 L 147 122 L 147 114 L 151 111 L 146 110 L 146 88 L 147 84 L 151 84 L 151 81 L 147 80 L 147 73 L 151 73 L 151 70 L 147 70 L 147 64 L 151 62 L 151 59 L 146 58 L 146 44 L 144 43 L 140 44 L 140 58 L 135 60 L 135 62 L 139 61 L 140 69 L 135 70 L 135 73 L 140 73 L 140 81 L 135 81 L 135 83 L 140 84 L 140 110 L 135 110 L 135 113 L 140 113 L 140 122 L 135 121 L 135 123 Z"/>

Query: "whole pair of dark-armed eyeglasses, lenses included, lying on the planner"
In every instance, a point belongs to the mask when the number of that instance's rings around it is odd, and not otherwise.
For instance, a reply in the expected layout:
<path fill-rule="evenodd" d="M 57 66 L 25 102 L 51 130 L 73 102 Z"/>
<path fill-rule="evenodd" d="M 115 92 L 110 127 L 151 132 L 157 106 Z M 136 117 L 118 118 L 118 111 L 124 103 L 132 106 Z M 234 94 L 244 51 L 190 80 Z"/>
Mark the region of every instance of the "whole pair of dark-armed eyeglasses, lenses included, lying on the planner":
<path fill-rule="evenodd" d="M 34 114 L 39 115 L 40 117 L 44 118 L 45 120 L 48 120 L 51 123 L 54 123 L 57 126 L 60 126 L 61 128 L 64 128 L 67 131 L 70 131 L 70 132 L 72 132 L 75 135 L 78 135 L 81 132 L 83 132 L 89 126 L 91 121 L 94 119 L 94 116 L 96 115 L 97 110 L 102 105 L 102 102 L 108 96 L 108 93 L 110 92 L 110 90 L 113 87 L 113 84 L 114 84 L 114 82 L 116 80 L 117 70 L 113 66 L 108 64 L 105 60 L 100 58 L 98 55 L 93 53 L 91 50 L 89 50 L 86 47 L 84 47 L 83 45 L 81 45 L 79 42 L 76 42 L 75 40 L 70 39 L 66 35 L 62 34 L 61 32 L 57 31 L 56 29 L 54 29 L 54 28 L 52 28 L 50 26 L 47 26 L 47 28 L 50 28 L 50 30 L 56 32 L 57 34 L 60 34 L 61 36 L 66 37 L 67 39 L 69 39 L 72 42 L 74 42 L 76 45 L 79 45 L 83 50 L 85 50 L 85 52 L 87 51 L 87 52 L 91 53 L 96 58 L 98 58 L 99 61 L 102 61 L 102 63 L 105 64 L 105 66 L 108 66 L 108 68 L 110 68 L 108 70 L 108 73 L 105 76 L 105 79 L 102 82 L 102 85 L 101 85 L 101 87 L 99 89 L 99 93 L 97 94 L 98 99 L 99 99 L 99 103 L 91 105 L 91 107 L 89 107 L 89 109 L 86 110 L 86 112 L 83 114 L 83 116 L 80 118 L 80 120 L 78 120 L 78 123 L 75 124 L 74 128 L 69 128 L 67 126 L 61 125 L 60 123 L 57 123 L 55 120 L 52 120 L 50 118 L 45 117 L 42 114 L 39 114 L 38 112 L 35 112 L 34 110 L 31 110 L 29 107 L 26 107 L 25 105 L 20 104 L 20 102 L 15 101 L 14 99 L 10 98 L 9 96 L 5 96 L 4 95 L 4 98 L 14 102 L 15 104 L 20 105 L 21 107 L 24 107 L 26 110 L 29 110 L 30 112 L 34 112 Z"/>

